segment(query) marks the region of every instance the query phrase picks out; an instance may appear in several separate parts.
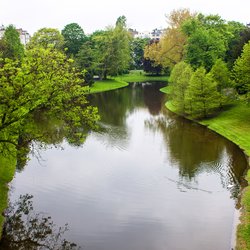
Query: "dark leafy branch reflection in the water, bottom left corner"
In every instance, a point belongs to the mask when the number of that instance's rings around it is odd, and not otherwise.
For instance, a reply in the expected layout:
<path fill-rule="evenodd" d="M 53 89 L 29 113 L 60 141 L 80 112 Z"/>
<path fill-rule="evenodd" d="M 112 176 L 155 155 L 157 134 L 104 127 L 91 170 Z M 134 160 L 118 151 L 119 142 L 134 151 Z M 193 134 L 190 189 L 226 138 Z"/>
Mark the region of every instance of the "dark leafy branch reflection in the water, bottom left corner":
<path fill-rule="evenodd" d="M 29 194 L 21 195 L 16 202 L 9 205 L 5 212 L 0 249 L 80 249 L 75 243 L 63 238 L 68 230 L 67 224 L 57 227 L 50 216 L 34 212 L 32 198 Z"/>

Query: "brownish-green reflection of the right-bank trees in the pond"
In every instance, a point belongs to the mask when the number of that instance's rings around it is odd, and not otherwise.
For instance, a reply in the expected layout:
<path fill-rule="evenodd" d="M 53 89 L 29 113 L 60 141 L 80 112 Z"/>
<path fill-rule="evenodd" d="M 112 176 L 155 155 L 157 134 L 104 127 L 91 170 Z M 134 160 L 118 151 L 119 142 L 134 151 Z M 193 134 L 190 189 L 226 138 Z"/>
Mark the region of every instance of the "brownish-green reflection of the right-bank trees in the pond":
<path fill-rule="evenodd" d="M 167 110 L 162 113 L 165 115 L 146 120 L 145 126 L 162 134 L 171 164 L 179 170 L 178 183 L 195 181 L 200 173 L 215 172 L 219 174 L 222 186 L 237 198 L 246 168 L 245 157 L 238 147 L 226 143 L 224 138 L 206 127 Z"/>

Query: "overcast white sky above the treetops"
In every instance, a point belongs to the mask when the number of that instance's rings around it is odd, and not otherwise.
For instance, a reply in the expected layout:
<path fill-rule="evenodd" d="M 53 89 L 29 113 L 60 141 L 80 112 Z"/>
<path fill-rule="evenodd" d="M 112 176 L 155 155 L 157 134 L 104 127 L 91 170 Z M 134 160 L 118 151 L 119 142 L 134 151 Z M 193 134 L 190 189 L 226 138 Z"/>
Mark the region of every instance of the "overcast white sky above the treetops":
<path fill-rule="evenodd" d="M 0 25 L 14 24 L 33 34 L 43 27 L 61 30 L 76 22 L 90 33 L 125 15 L 128 27 L 150 31 L 166 27 L 165 15 L 179 8 L 250 22 L 250 0 L 0 0 Z"/>

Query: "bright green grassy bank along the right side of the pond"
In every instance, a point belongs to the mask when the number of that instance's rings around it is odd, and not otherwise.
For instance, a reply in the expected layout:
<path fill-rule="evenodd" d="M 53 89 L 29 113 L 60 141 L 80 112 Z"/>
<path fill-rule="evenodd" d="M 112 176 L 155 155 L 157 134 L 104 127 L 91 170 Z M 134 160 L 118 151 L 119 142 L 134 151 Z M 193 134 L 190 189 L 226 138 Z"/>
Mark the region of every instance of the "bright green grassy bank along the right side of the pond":
<path fill-rule="evenodd" d="M 169 88 L 162 88 L 162 92 L 169 93 Z M 171 102 L 166 103 L 166 107 L 176 113 Z M 250 157 L 250 107 L 244 103 L 235 103 L 218 116 L 204 119 L 199 122 L 211 130 L 226 137 L 237 144 Z M 246 177 L 250 183 L 250 170 Z M 243 190 L 242 194 L 242 214 L 240 225 L 237 228 L 237 250 L 250 249 L 250 186 Z"/>

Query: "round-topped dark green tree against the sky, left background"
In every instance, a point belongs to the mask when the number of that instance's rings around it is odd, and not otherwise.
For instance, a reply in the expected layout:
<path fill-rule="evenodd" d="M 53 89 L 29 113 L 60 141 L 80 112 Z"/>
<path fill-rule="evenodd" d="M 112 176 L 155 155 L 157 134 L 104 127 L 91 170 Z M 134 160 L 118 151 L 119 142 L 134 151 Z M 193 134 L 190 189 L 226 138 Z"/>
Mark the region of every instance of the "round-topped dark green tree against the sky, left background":
<path fill-rule="evenodd" d="M 70 23 L 64 27 L 62 35 L 65 41 L 64 47 L 67 48 L 67 55 L 75 56 L 86 40 L 83 29 L 77 23 Z"/>

